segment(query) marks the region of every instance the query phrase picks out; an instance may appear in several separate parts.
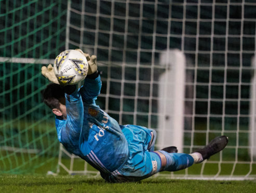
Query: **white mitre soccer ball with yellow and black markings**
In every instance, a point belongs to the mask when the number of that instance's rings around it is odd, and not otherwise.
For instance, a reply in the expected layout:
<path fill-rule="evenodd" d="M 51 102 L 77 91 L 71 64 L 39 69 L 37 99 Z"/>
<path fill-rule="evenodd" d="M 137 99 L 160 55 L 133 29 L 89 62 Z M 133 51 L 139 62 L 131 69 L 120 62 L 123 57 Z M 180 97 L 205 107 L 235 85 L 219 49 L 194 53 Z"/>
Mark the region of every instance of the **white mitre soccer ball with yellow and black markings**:
<path fill-rule="evenodd" d="M 85 79 L 88 62 L 83 53 L 77 50 L 65 50 L 56 57 L 53 69 L 61 85 L 76 85 Z"/>

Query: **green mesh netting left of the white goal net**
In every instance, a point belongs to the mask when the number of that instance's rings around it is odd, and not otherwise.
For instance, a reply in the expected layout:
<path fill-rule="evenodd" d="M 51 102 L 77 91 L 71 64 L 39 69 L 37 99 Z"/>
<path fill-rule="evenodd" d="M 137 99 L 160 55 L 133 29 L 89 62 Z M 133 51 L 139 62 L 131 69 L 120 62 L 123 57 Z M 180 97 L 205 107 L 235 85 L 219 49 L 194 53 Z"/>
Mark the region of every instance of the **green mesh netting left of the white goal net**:
<path fill-rule="evenodd" d="M 66 5 L 0 1 L 0 7 L 0 173 L 56 170 L 59 146 L 41 99 L 47 84 L 41 64 L 64 49 Z"/>

